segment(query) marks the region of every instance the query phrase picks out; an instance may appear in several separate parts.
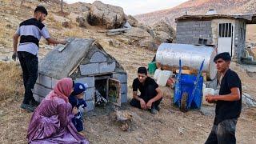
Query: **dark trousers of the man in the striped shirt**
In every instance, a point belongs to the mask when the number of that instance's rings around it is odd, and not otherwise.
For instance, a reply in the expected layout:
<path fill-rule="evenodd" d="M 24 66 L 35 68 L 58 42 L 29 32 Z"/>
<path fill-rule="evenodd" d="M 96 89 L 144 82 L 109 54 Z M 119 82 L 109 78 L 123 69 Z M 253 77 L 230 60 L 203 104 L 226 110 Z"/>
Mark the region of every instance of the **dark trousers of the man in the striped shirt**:
<path fill-rule="evenodd" d="M 38 57 L 25 51 L 18 51 L 18 59 L 22 66 L 23 84 L 25 94 L 23 103 L 30 104 L 35 101 L 32 93 L 38 78 Z"/>

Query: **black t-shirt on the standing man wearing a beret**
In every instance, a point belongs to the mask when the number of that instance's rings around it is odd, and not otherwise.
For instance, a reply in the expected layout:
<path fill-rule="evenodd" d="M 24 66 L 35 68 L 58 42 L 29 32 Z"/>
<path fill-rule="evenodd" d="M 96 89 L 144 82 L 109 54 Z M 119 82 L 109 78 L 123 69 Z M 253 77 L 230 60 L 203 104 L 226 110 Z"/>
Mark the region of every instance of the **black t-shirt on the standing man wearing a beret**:
<path fill-rule="evenodd" d="M 218 125 L 226 119 L 238 118 L 242 109 L 242 85 L 241 80 L 233 70 L 227 70 L 222 78 L 221 87 L 219 90 L 220 95 L 230 94 L 231 88 L 238 87 L 240 90 L 240 99 L 238 101 L 217 101 L 215 110 L 214 124 Z"/>

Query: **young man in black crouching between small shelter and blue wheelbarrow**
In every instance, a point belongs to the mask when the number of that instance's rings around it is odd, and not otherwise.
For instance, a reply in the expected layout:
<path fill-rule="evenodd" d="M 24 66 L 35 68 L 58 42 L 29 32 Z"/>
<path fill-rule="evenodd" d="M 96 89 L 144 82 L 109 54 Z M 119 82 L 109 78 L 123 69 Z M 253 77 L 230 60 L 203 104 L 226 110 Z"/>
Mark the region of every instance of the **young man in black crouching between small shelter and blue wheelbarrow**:
<path fill-rule="evenodd" d="M 139 96 L 137 94 L 138 90 L 141 92 Z M 160 110 L 159 104 L 162 100 L 162 92 L 154 79 L 147 76 L 146 67 L 138 68 L 138 78 L 134 79 L 133 91 L 134 98 L 130 102 L 131 106 L 150 110 L 152 114 L 156 114 Z"/>

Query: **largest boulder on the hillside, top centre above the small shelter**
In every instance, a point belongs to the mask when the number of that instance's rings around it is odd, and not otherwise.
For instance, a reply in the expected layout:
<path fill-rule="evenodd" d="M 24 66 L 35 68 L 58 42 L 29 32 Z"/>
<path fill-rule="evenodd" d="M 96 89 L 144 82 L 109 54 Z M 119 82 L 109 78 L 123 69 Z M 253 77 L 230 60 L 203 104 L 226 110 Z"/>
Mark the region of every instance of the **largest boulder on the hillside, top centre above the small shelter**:
<path fill-rule="evenodd" d="M 88 22 L 92 26 L 105 26 L 106 29 L 115 29 L 126 22 L 126 15 L 122 7 L 95 1 L 90 5 Z"/>

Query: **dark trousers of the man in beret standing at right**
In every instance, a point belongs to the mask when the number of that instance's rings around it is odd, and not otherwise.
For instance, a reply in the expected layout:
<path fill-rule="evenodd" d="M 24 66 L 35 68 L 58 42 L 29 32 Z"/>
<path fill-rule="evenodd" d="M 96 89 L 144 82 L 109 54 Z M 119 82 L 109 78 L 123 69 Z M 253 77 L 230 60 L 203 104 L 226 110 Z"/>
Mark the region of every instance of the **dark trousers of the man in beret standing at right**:
<path fill-rule="evenodd" d="M 226 119 L 214 125 L 205 144 L 233 144 L 236 143 L 235 127 L 238 118 Z"/>

